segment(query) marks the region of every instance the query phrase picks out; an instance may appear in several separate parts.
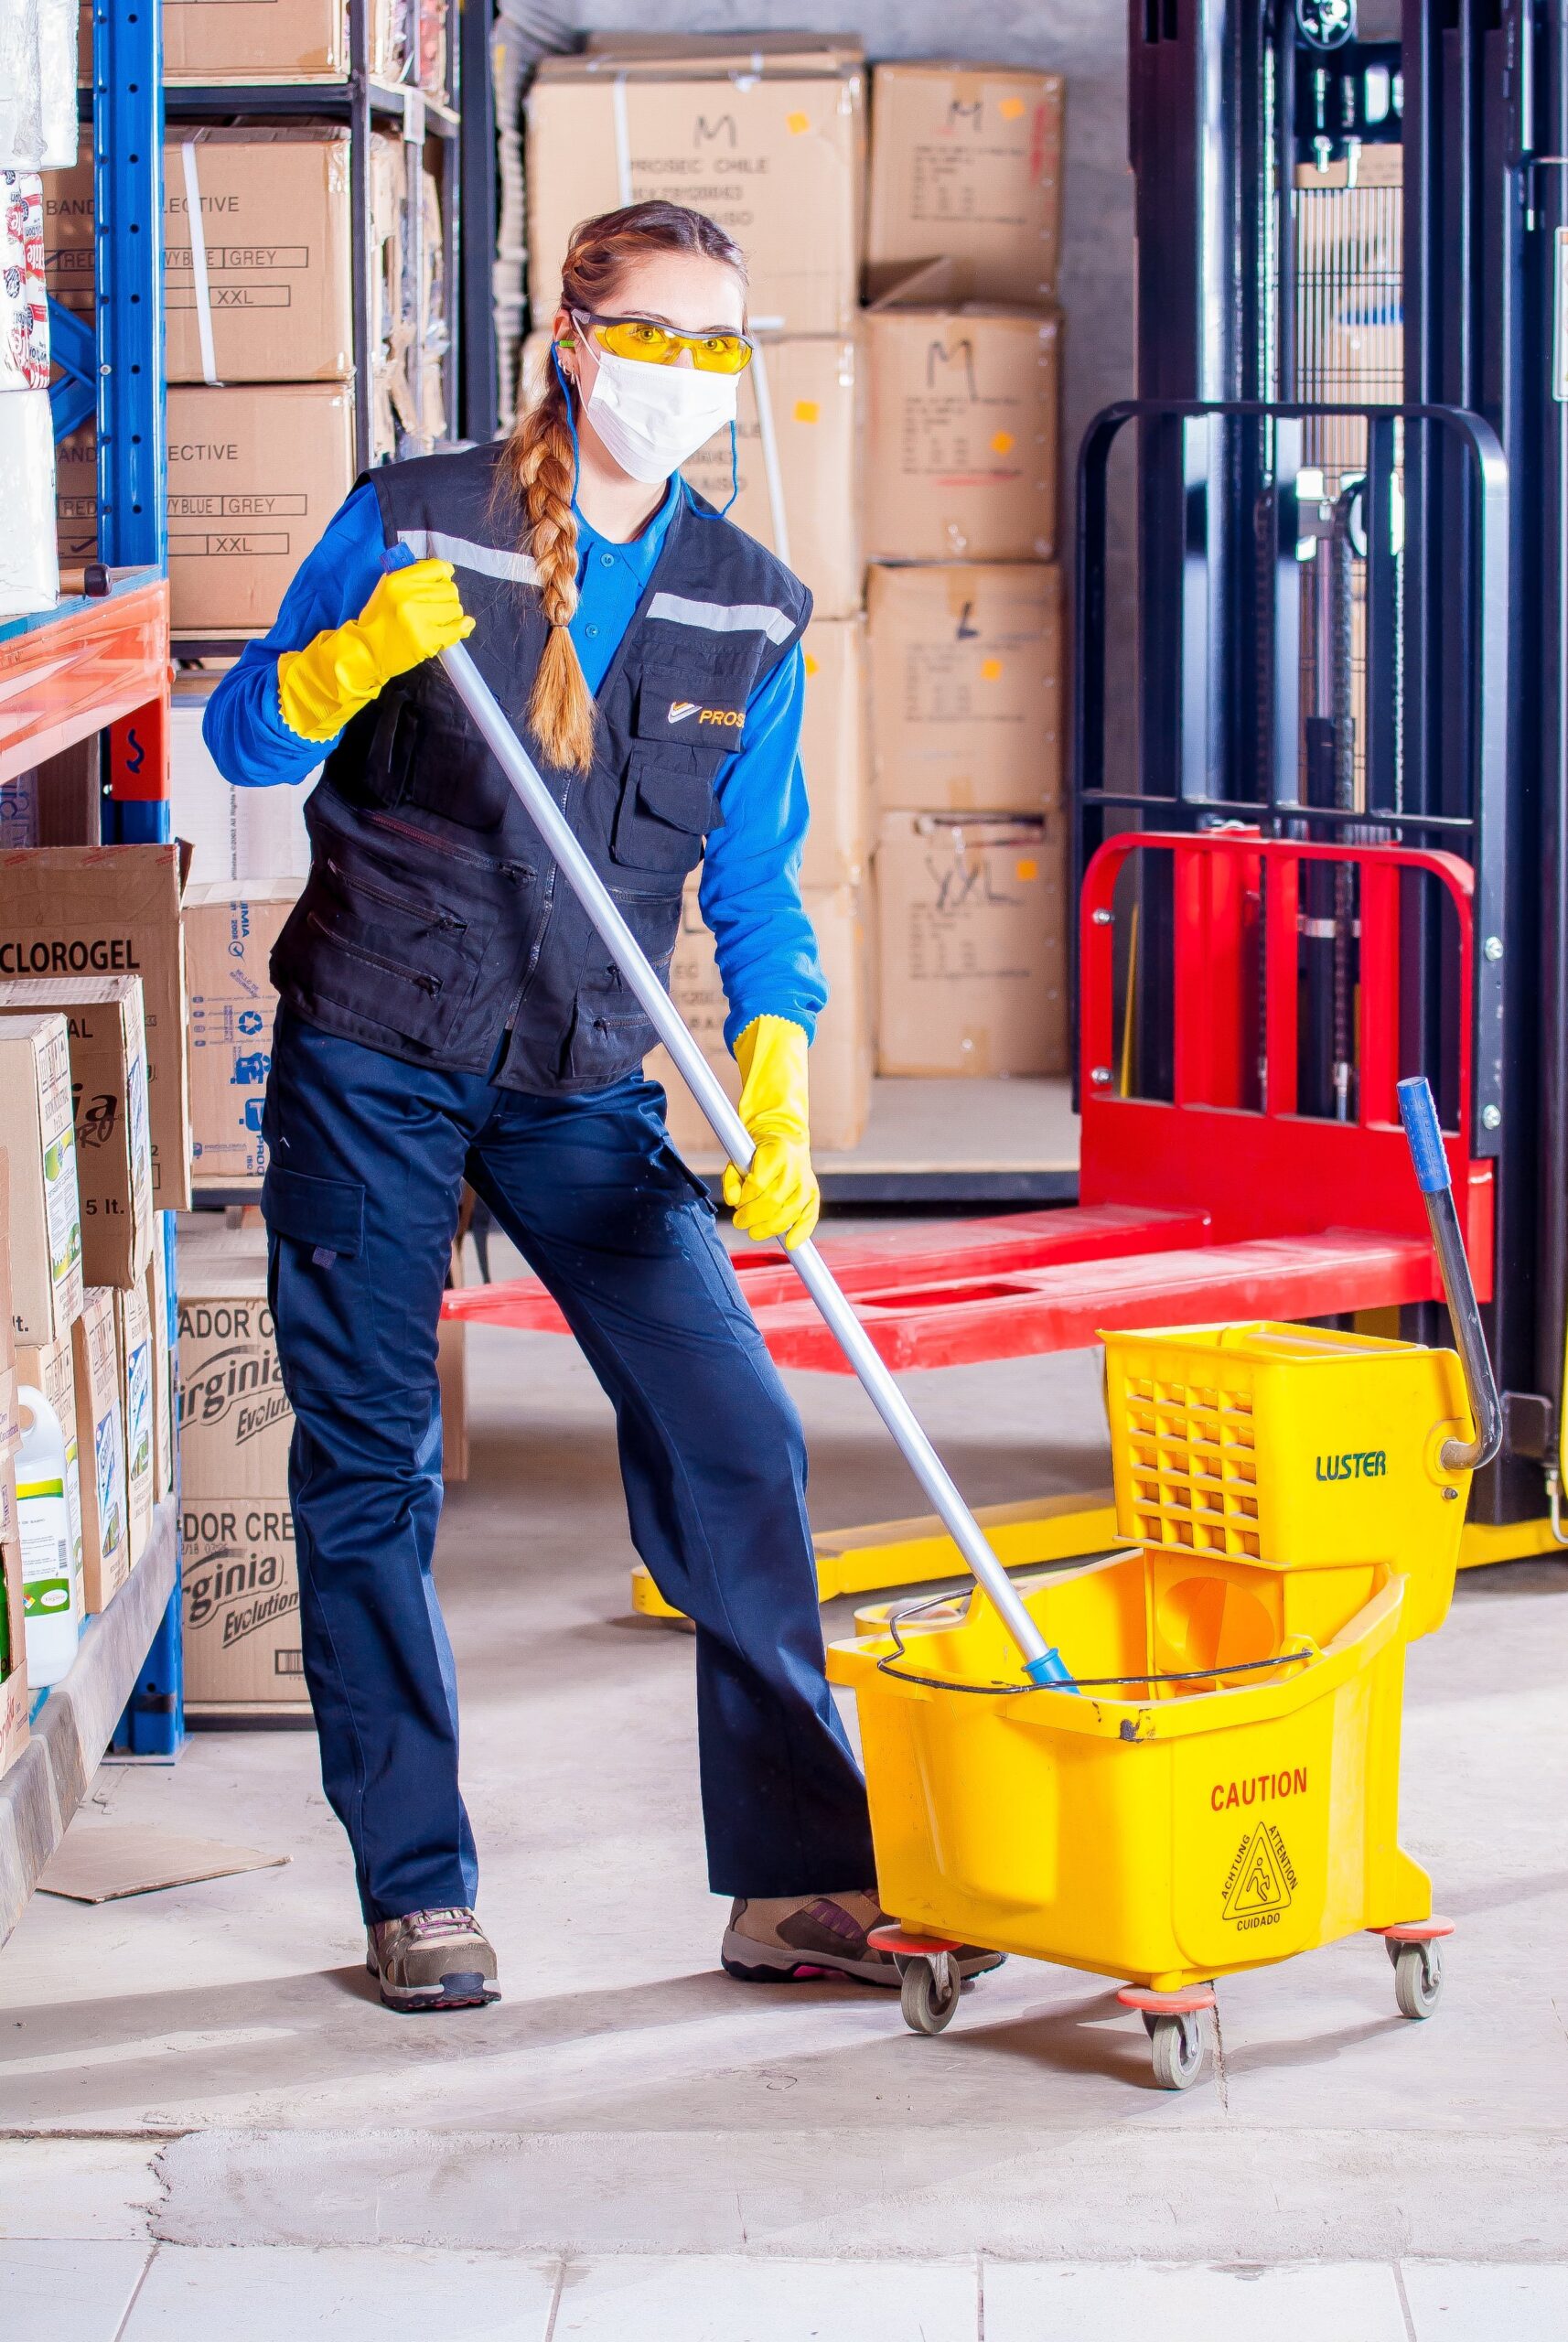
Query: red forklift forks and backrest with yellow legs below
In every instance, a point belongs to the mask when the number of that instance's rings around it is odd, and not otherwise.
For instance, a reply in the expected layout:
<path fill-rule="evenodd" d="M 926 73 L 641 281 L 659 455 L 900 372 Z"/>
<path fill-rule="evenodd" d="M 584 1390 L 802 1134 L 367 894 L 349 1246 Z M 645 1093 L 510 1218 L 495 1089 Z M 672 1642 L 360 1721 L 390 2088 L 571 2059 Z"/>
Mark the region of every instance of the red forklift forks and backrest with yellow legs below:
<path fill-rule="evenodd" d="M 1170 857 L 1172 1096 L 1128 1096 L 1116 1047 L 1119 895 L 1137 855 Z M 1360 904 L 1357 1082 L 1348 1119 L 1297 1110 L 1304 869 L 1350 869 Z M 1119 881 L 1123 881 L 1119 885 Z M 1100 1330 L 1318 1319 L 1442 1297 L 1411 1187 L 1395 1082 L 1399 925 L 1414 890 L 1442 897 L 1437 932 L 1453 1014 L 1458 1129 L 1472 1091 L 1474 874 L 1404 845 L 1318 845 L 1257 829 L 1109 838 L 1079 904 L 1081 1201 L 1058 1211 L 917 1223 L 821 1244 L 838 1283 L 894 1370 L 1084 1349 Z M 1126 953 L 1123 953 L 1126 960 Z M 1261 984 L 1259 984 L 1261 967 Z M 1123 998 L 1123 1028 L 1128 1007 Z M 1247 1103 L 1247 1101 L 1254 1103 Z M 1491 1297 L 1493 1169 L 1444 1134 L 1477 1295 Z M 789 1265 L 735 1260 L 772 1358 L 847 1372 Z M 447 1316 L 566 1333 L 534 1276 L 454 1290 Z M 1079 1560 L 1116 1543 L 1109 1490 L 976 1515 L 1009 1567 Z M 1465 1564 L 1549 1550 L 1545 1522 L 1472 1525 Z M 885 1522 L 817 1541 L 821 1597 L 960 1576 L 936 1520 Z M 646 1571 L 634 1602 L 669 1611 Z"/>

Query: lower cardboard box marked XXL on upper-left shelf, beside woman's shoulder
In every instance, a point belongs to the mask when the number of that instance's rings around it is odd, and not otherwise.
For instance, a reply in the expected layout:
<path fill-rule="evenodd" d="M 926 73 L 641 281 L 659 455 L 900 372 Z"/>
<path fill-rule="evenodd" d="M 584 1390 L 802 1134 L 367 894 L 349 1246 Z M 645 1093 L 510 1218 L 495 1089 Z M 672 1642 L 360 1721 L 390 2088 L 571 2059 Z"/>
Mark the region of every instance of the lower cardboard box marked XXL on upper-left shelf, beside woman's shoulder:
<path fill-rule="evenodd" d="M 171 389 L 171 625 L 269 628 L 283 588 L 351 487 L 346 384 Z"/>

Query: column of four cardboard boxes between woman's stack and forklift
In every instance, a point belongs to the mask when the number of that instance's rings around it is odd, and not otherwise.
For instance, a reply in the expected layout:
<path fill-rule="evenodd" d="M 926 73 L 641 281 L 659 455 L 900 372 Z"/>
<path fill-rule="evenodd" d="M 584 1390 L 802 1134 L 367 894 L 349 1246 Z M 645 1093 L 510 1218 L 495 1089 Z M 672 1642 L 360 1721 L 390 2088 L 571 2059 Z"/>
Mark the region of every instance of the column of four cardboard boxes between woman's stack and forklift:
<path fill-rule="evenodd" d="M 1062 82 L 873 73 L 866 309 L 878 1070 L 1067 1070 Z"/>

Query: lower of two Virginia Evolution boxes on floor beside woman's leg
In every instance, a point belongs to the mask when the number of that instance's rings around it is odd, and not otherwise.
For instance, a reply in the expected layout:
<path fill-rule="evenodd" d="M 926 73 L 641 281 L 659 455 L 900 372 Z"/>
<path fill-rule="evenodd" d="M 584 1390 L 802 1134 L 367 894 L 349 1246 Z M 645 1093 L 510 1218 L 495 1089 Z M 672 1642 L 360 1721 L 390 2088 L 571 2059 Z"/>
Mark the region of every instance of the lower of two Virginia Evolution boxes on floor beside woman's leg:
<path fill-rule="evenodd" d="M 309 1707 L 288 1497 L 180 1501 L 185 1698 L 192 1707 Z"/>

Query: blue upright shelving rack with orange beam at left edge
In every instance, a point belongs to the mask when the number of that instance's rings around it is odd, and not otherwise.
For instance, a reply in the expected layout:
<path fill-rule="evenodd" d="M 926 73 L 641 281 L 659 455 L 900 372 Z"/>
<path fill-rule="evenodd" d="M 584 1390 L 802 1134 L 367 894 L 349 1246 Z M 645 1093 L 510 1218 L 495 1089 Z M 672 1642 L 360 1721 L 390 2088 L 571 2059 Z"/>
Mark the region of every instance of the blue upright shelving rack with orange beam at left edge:
<path fill-rule="evenodd" d="M 51 304 L 54 436 L 98 429 L 98 564 L 59 609 L 0 623 L 0 785 L 94 735 L 103 841 L 169 836 L 169 546 L 164 518 L 164 94 L 157 0 L 96 0 L 96 321 Z M 171 1223 L 164 1223 L 166 1227 Z M 173 1260 L 169 1260 L 173 1307 Z M 75 1813 L 117 1754 L 171 1761 L 185 1738 L 178 1508 L 42 1700 L 0 1780 L 0 1942 Z"/>

